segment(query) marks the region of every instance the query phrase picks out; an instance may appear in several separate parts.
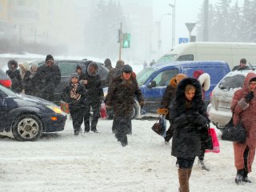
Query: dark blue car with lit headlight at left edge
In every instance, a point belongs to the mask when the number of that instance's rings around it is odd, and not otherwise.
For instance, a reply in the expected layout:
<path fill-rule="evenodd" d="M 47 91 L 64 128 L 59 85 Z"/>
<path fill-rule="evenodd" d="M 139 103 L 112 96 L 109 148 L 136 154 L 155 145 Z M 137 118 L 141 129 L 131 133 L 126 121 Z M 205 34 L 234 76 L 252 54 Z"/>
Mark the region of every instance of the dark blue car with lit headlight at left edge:
<path fill-rule="evenodd" d="M 64 130 L 65 122 L 66 114 L 54 103 L 0 86 L 0 132 L 12 131 L 18 141 L 35 141 L 42 132 Z"/>

